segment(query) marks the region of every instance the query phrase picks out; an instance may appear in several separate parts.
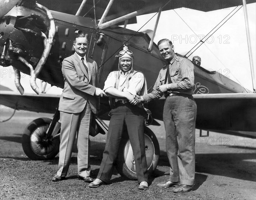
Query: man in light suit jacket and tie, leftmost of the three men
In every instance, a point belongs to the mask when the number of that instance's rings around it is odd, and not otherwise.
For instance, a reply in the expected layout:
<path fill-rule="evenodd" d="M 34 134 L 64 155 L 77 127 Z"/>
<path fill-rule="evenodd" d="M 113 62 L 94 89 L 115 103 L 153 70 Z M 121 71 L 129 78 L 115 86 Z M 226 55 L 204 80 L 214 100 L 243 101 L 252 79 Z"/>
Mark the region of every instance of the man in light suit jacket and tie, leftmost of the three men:
<path fill-rule="evenodd" d="M 98 84 L 97 64 L 86 58 L 87 37 L 76 35 L 73 43 L 75 53 L 62 62 L 64 89 L 59 102 L 61 121 L 61 144 L 58 172 L 52 181 L 60 181 L 67 176 L 73 144 L 77 133 L 78 178 L 92 182 L 90 177 L 90 124 L 92 114 L 98 110 L 98 98 L 105 95 L 96 87 Z"/>

